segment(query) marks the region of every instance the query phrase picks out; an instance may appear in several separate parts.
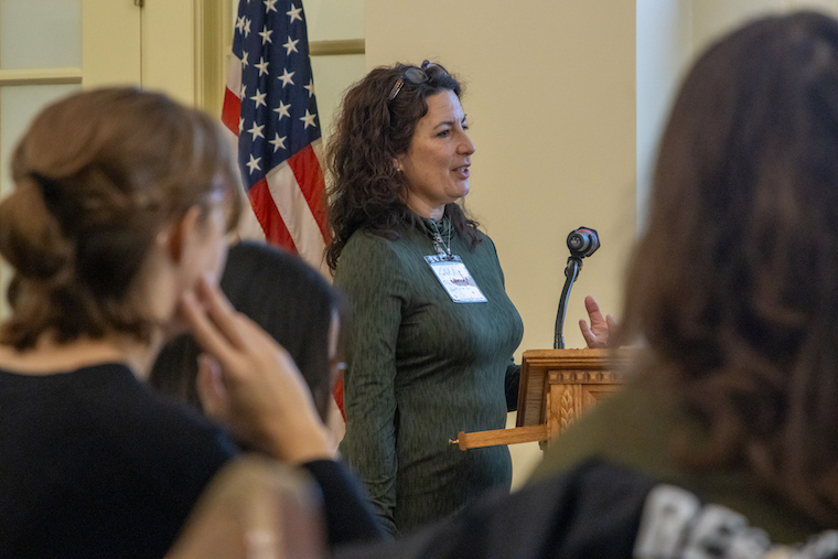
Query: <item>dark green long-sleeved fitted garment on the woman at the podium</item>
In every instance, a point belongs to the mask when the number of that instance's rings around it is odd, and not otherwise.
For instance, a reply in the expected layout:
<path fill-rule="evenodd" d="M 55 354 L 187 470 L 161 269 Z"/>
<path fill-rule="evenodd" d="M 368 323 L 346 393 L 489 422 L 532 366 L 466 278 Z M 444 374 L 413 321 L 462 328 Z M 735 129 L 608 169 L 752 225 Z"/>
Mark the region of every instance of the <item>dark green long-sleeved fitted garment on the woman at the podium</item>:
<path fill-rule="evenodd" d="M 451 301 L 423 259 L 436 254 L 429 225 L 396 240 L 356 232 L 334 275 L 352 304 L 341 452 L 393 533 L 455 513 L 488 490 L 508 491 L 512 481 L 505 445 L 461 451 L 449 441 L 504 428 L 524 325 L 483 234 L 471 248 L 452 233 L 450 246 L 488 302 Z"/>

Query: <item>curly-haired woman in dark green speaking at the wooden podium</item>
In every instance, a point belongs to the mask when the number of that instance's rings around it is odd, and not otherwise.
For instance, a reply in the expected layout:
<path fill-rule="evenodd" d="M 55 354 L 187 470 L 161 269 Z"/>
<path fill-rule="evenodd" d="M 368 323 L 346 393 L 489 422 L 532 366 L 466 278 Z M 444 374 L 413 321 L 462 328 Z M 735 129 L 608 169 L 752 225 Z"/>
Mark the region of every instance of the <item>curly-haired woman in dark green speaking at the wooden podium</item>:
<path fill-rule="evenodd" d="M 505 445 L 449 442 L 505 426 L 524 332 L 492 239 L 456 203 L 474 153 L 460 94 L 438 64 L 376 68 L 327 151 L 327 261 L 353 305 L 341 450 L 395 534 L 512 482 Z"/>

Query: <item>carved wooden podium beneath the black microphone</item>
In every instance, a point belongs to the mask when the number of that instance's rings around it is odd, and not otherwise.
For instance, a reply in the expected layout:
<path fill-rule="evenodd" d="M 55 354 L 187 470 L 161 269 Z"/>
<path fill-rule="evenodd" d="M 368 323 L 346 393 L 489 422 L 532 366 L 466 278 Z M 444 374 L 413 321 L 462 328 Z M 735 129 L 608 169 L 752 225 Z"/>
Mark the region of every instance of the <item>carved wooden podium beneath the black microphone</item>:
<path fill-rule="evenodd" d="M 627 350 L 524 352 L 514 429 L 460 432 L 460 450 L 540 441 L 541 449 L 624 381 Z"/>

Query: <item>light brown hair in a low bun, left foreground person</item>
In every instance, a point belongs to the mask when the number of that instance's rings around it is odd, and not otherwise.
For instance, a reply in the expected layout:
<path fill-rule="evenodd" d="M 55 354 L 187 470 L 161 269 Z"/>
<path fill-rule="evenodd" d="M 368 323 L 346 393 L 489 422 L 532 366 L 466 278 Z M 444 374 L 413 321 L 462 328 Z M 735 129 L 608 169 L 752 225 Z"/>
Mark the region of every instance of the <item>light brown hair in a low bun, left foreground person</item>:
<path fill-rule="evenodd" d="M 0 203 L 0 254 L 14 269 L 0 342 L 32 347 L 114 332 L 148 341 L 131 288 L 161 227 L 213 196 L 239 215 L 236 162 L 216 120 L 162 94 L 94 89 L 46 107 L 18 143 Z"/>

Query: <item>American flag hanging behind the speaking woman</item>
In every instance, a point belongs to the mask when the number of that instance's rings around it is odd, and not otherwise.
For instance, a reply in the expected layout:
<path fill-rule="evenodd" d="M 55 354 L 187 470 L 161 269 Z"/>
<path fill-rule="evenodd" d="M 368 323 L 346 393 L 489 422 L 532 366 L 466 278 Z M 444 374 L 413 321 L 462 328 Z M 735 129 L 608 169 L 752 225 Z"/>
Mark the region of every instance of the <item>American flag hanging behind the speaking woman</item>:
<path fill-rule="evenodd" d="M 239 1 L 222 120 L 238 139 L 260 233 L 325 272 L 322 142 L 300 0 Z"/>

